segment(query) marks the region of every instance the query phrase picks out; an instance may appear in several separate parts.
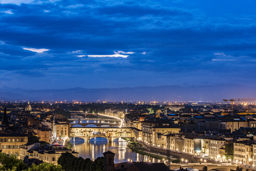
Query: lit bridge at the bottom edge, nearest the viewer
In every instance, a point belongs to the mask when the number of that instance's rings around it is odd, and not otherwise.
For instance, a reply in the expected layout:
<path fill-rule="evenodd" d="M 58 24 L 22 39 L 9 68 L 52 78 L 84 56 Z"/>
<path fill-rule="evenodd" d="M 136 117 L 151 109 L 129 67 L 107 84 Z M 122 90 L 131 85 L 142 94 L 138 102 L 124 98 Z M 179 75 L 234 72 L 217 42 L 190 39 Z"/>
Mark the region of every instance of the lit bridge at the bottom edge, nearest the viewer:
<path fill-rule="evenodd" d="M 188 163 L 188 164 L 170 164 L 170 169 L 177 169 L 177 168 L 194 168 L 203 171 L 208 170 L 218 170 L 218 171 L 230 171 L 230 170 L 237 170 L 237 171 L 248 171 L 248 170 L 240 170 L 239 165 L 230 164 L 230 163 Z"/>

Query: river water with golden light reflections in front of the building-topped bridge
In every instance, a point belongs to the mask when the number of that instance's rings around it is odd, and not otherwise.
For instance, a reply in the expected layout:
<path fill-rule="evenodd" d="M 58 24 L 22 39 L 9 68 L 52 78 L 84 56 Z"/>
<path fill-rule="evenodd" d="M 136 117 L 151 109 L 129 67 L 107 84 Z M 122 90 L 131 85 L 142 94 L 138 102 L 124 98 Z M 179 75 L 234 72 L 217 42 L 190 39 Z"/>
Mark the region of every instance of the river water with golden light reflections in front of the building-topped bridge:
<path fill-rule="evenodd" d="M 102 153 L 109 150 L 115 153 L 115 163 L 127 162 L 128 160 L 133 160 L 135 162 L 158 161 L 153 160 L 152 157 L 147 155 L 141 155 L 139 153 L 132 152 L 132 150 L 127 147 L 127 142 L 125 141 L 108 142 L 105 138 L 96 137 L 91 139 L 90 142 L 84 142 L 83 139 L 79 138 L 75 139 L 75 143 L 73 140 L 70 140 L 70 142 L 73 145 L 72 150 L 78 152 L 79 156 L 83 158 L 91 158 L 92 160 L 103 156 Z"/>

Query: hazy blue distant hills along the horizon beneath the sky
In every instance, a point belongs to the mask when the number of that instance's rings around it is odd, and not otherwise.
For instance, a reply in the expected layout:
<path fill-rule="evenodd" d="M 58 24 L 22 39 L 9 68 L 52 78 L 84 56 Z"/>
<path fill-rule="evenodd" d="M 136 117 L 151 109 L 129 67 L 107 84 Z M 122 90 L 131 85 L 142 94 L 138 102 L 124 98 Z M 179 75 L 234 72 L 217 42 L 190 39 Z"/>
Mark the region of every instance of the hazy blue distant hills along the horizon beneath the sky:
<path fill-rule="evenodd" d="M 225 98 L 256 97 L 256 87 L 239 85 L 158 86 L 113 89 L 0 89 L 0 97 L 9 100 L 38 101 L 222 101 Z"/>

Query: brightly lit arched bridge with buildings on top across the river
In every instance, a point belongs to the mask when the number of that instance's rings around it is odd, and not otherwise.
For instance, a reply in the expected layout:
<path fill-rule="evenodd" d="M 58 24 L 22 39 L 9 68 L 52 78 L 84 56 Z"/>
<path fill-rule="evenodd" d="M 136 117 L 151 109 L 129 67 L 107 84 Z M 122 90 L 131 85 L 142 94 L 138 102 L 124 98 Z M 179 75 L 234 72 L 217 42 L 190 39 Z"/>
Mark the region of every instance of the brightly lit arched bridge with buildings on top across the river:
<path fill-rule="evenodd" d="M 94 137 L 104 137 L 108 141 L 113 141 L 117 138 L 133 137 L 132 128 L 95 128 L 95 127 L 71 127 L 69 130 L 69 138 L 79 137 L 85 141 L 89 141 Z"/>

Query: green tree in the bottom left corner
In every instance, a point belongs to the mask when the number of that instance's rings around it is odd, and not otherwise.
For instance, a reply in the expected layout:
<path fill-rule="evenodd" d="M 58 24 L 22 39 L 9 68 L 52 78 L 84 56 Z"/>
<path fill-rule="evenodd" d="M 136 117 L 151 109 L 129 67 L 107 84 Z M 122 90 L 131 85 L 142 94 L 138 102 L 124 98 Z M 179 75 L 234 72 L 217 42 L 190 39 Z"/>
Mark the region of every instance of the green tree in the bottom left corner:
<path fill-rule="evenodd" d="M 16 155 L 10 155 L 7 156 L 4 153 L 0 153 L 0 170 L 5 170 L 5 171 L 21 171 L 21 170 L 26 170 L 28 166 L 23 163 L 22 161 L 18 160 Z"/>

